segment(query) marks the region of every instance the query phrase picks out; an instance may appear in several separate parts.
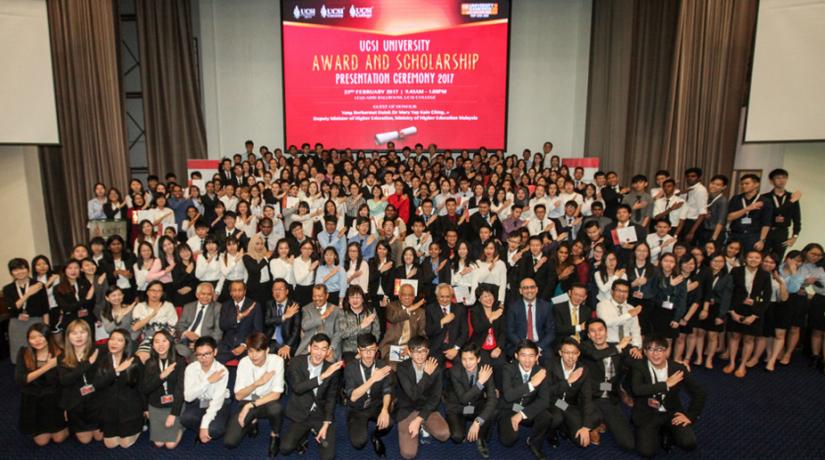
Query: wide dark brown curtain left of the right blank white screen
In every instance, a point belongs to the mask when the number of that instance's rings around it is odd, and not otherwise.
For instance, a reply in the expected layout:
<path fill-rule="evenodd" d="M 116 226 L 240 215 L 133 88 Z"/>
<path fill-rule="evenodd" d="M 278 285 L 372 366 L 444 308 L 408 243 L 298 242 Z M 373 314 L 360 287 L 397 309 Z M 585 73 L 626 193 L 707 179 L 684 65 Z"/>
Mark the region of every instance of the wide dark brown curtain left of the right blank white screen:
<path fill-rule="evenodd" d="M 624 178 L 730 173 L 755 12 L 755 0 L 595 0 L 588 155 Z"/>

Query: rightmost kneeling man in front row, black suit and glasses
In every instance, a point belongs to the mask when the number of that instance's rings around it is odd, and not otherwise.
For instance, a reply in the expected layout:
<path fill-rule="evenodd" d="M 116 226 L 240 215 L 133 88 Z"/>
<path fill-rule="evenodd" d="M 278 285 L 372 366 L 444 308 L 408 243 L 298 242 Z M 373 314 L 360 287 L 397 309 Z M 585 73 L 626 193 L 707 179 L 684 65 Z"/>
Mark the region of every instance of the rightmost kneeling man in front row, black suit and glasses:
<path fill-rule="evenodd" d="M 633 382 L 633 424 L 636 425 L 636 451 L 653 457 L 659 450 L 660 434 L 684 450 L 696 448 L 692 424 L 699 419 L 705 405 L 705 391 L 684 365 L 668 359 L 666 338 L 645 336 L 645 358 L 631 371 Z M 690 395 L 690 406 L 682 407 L 680 393 Z"/>

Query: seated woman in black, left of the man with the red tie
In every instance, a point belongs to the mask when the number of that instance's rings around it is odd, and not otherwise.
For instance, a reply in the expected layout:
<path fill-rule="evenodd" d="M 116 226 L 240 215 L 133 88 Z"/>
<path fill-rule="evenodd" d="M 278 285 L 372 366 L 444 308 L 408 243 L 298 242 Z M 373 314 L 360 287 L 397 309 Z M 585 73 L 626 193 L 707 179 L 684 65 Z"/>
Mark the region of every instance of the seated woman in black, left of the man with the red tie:
<path fill-rule="evenodd" d="M 469 310 L 473 335 L 470 341 L 481 347 L 481 359 L 492 364 L 496 375 L 507 362 L 504 345 L 507 343 L 507 324 L 504 308 L 496 299 L 498 292 L 487 286 L 476 289 L 476 305 Z"/>

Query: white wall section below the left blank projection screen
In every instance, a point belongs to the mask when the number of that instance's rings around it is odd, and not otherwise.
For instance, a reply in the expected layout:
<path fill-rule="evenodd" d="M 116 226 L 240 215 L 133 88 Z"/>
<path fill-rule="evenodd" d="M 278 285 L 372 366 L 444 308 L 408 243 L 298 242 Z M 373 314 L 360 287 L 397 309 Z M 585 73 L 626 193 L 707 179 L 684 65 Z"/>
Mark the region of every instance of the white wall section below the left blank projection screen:
<path fill-rule="evenodd" d="M 13 257 L 51 257 L 36 146 L 0 145 L 0 196 L 0 216 L 5 220 L 0 284 L 5 285 L 11 282 L 5 264 Z"/>

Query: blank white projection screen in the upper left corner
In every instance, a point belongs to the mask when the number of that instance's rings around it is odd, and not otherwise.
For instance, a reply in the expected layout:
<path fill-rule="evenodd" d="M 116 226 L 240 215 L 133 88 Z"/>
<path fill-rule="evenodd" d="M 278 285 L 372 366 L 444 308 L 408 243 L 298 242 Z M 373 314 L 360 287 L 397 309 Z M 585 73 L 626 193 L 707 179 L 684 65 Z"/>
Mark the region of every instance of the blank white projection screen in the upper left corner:
<path fill-rule="evenodd" d="M 46 0 L 0 1 L 0 144 L 57 144 Z"/>

